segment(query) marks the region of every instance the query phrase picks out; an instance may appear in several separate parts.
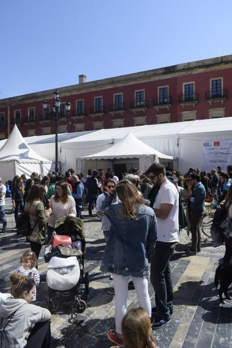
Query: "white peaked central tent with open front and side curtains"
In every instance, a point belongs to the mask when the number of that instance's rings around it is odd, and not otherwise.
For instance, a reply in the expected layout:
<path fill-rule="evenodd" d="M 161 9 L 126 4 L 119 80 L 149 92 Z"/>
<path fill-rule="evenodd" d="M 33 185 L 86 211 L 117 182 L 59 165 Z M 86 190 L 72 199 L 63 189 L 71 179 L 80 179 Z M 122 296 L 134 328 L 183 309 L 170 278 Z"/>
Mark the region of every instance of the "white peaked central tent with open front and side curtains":
<path fill-rule="evenodd" d="M 114 160 L 114 159 L 133 159 L 139 158 L 140 173 L 144 173 L 153 163 L 158 162 L 158 159 L 173 160 L 172 156 L 167 156 L 156 151 L 149 145 L 146 145 L 141 140 L 137 139 L 133 134 L 127 133 L 127 135 L 120 139 L 116 144 L 112 142 L 110 148 L 98 152 L 93 155 L 83 156 L 77 161 L 77 172 L 83 172 L 84 160 Z"/>

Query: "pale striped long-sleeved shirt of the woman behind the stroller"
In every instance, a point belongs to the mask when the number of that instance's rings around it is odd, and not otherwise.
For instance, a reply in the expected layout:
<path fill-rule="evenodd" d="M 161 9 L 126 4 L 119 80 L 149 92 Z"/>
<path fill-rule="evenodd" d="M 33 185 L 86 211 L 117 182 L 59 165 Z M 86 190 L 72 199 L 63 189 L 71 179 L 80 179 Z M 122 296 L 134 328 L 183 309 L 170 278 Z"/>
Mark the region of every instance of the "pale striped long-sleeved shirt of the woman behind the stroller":
<path fill-rule="evenodd" d="M 55 202 L 54 196 L 50 200 L 52 214 L 49 217 L 49 226 L 59 219 L 65 219 L 68 215 L 77 216 L 75 199 L 72 196 L 68 196 L 67 203 L 62 203 L 62 201 Z"/>

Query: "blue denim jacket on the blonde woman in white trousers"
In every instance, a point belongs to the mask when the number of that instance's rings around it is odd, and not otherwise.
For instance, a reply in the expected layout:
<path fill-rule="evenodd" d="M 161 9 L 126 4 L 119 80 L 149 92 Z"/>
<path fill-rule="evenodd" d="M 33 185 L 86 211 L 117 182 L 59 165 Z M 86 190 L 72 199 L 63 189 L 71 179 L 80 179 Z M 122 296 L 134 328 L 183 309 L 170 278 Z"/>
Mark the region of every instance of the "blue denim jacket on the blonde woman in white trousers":
<path fill-rule="evenodd" d="M 111 223 L 100 270 L 123 276 L 149 277 L 149 259 L 157 239 L 156 218 L 152 208 L 140 205 L 136 219 L 122 215 L 122 203 L 111 204 L 113 195 L 105 193 L 101 211 Z"/>

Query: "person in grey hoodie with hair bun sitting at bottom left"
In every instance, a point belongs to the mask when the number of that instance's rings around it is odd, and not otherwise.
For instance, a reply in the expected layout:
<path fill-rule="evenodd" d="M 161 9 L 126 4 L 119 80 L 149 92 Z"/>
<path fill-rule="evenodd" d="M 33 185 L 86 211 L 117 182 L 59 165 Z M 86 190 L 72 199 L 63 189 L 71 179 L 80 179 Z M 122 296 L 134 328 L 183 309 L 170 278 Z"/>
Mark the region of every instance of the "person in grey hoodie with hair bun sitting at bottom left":
<path fill-rule="evenodd" d="M 14 273 L 10 275 L 10 281 L 12 297 L 0 302 L 1 328 L 6 325 L 3 334 L 6 347 L 49 348 L 51 313 L 30 304 L 35 290 L 34 280 Z"/>

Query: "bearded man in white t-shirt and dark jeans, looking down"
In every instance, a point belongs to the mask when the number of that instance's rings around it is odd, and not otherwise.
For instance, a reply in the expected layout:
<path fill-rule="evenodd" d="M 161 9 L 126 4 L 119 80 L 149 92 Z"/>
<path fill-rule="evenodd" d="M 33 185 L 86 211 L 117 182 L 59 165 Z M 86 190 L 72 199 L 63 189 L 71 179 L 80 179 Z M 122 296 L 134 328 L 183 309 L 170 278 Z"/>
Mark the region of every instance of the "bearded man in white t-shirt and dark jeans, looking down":
<path fill-rule="evenodd" d="M 173 289 L 171 281 L 170 257 L 174 252 L 179 234 L 179 193 L 166 177 L 165 167 L 153 164 L 146 175 L 159 187 L 153 209 L 157 218 L 158 238 L 155 254 L 151 261 L 151 283 L 155 290 L 155 315 L 153 329 L 170 322 L 173 312 Z"/>

